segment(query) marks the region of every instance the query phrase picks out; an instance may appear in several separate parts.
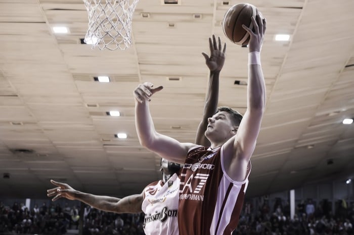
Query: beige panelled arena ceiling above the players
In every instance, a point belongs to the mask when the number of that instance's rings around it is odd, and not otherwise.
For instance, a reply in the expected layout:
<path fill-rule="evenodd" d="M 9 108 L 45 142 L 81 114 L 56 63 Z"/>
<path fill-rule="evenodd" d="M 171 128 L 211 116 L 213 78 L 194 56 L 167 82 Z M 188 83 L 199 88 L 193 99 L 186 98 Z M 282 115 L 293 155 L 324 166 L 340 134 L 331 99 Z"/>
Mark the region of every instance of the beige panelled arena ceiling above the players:
<path fill-rule="evenodd" d="M 0 0 L 0 198 L 45 198 L 50 179 L 121 197 L 160 179 L 160 158 L 137 138 L 132 91 L 163 85 L 151 102 L 156 129 L 194 142 L 208 80 L 201 52 L 212 34 L 227 42 L 219 105 L 245 111 L 248 50 L 221 27 L 239 2 L 163 2 L 140 0 L 131 48 L 101 51 L 80 43 L 88 23 L 81 0 Z M 354 117 L 354 1 L 249 3 L 268 25 L 267 107 L 247 196 L 353 177 L 354 124 L 342 121 Z M 94 81 L 102 75 L 111 82 Z M 115 137 L 122 132 L 127 139 Z"/>

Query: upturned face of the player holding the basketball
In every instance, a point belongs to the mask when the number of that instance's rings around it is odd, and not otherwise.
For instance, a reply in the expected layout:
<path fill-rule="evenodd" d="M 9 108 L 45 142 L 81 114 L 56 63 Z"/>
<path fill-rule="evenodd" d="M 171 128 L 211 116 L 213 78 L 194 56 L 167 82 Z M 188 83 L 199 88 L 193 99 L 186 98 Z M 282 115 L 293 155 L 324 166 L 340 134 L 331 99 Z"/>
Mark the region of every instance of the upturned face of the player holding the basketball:
<path fill-rule="evenodd" d="M 229 139 L 234 135 L 234 129 L 229 113 L 220 111 L 208 119 L 205 136 L 213 139 Z"/>

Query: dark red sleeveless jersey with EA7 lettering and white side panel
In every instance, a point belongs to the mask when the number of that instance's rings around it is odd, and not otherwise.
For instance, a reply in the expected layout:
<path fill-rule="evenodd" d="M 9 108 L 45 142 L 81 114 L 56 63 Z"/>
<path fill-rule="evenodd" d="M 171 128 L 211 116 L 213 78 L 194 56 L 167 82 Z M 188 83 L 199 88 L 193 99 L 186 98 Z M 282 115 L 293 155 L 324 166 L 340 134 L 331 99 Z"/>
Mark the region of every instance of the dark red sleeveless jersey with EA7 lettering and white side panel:
<path fill-rule="evenodd" d="M 196 146 L 187 154 L 180 174 L 181 235 L 224 235 L 237 227 L 251 163 L 246 179 L 233 181 L 224 169 L 223 149 Z"/>

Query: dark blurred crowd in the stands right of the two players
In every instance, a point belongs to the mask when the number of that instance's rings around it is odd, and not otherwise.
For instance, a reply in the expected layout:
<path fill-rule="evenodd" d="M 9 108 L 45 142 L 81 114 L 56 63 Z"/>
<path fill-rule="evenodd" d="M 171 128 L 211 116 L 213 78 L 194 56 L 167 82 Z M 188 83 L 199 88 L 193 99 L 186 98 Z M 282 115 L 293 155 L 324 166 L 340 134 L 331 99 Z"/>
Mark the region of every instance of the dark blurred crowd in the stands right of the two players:
<path fill-rule="evenodd" d="M 348 207 L 345 200 L 336 203 L 336 213 L 332 204 L 323 200 L 317 206 L 311 199 L 296 205 L 294 218 L 290 218 L 290 205 L 277 199 L 273 208 L 264 200 L 258 208 L 246 202 L 240 216 L 239 225 L 233 235 L 297 235 L 297 234 L 354 234 L 354 204 Z"/>

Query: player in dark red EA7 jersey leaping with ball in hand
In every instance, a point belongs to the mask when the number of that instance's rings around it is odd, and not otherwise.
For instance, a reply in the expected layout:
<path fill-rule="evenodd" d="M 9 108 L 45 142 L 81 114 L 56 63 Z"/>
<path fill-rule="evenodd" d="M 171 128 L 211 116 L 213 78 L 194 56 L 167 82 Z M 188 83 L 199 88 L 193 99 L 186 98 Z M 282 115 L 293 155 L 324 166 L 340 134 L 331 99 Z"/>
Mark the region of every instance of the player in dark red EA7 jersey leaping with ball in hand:
<path fill-rule="evenodd" d="M 134 92 L 140 143 L 166 159 L 184 163 L 178 215 L 181 235 L 231 234 L 237 227 L 265 106 L 259 55 L 265 20 L 257 15 L 252 23 L 255 32 L 243 25 L 250 34 L 246 112 L 242 118 L 231 108 L 219 108 L 205 131 L 210 148 L 180 143 L 156 132 L 147 101 L 161 87 L 144 83 Z"/>

